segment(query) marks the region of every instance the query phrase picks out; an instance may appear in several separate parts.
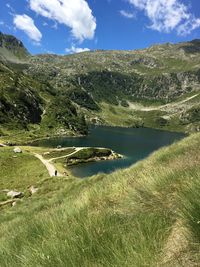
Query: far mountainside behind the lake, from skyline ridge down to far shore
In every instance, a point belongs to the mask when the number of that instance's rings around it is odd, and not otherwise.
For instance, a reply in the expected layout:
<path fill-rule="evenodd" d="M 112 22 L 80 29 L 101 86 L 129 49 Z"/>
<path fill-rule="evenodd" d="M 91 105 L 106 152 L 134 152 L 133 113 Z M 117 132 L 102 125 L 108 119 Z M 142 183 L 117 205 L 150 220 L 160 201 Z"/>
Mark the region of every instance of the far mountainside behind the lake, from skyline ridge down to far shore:
<path fill-rule="evenodd" d="M 56 90 L 70 92 L 69 97 L 73 95 L 71 100 L 87 109 L 83 112 L 89 121 L 178 131 L 200 129 L 198 97 L 195 101 L 178 104 L 188 96 L 200 93 L 200 40 L 155 45 L 136 51 L 97 50 L 68 56 L 38 55 L 32 57 L 31 62 L 33 64 L 29 65 L 27 72 L 43 81 L 48 80 Z M 73 92 L 84 97 L 77 98 Z M 83 99 L 95 102 L 98 106 L 95 109 L 101 110 L 96 113 Z M 149 110 L 130 111 L 128 103 L 131 106 L 131 102 L 149 105 Z M 176 111 L 171 110 L 171 106 L 166 106 L 165 110 L 161 107 L 157 112 L 151 109 L 151 105 L 174 102 L 177 102 Z M 110 108 L 105 108 L 105 105 Z M 196 114 L 193 119 L 188 115 L 192 110 Z M 115 120 L 114 112 L 119 122 Z M 120 112 L 123 112 L 123 121 Z"/>

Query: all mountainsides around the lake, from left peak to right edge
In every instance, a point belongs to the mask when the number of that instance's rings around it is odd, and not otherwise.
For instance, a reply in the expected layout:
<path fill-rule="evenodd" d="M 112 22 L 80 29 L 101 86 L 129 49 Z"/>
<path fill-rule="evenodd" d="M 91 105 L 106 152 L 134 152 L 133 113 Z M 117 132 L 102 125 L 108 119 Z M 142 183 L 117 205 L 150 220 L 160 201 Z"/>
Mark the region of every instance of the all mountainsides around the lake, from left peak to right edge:
<path fill-rule="evenodd" d="M 1 124 L 8 124 L 11 114 L 22 127 L 25 123 L 30 130 L 34 124 L 36 131 L 53 134 L 86 133 L 85 119 L 199 129 L 200 40 L 135 51 L 31 56 L 21 41 L 1 33 L 0 80 Z M 132 109 L 136 103 L 150 108 Z M 177 103 L 176 109 L 167 103 Z M 119 123 L 113 120 L 116 114 L 123 117 Z"/>

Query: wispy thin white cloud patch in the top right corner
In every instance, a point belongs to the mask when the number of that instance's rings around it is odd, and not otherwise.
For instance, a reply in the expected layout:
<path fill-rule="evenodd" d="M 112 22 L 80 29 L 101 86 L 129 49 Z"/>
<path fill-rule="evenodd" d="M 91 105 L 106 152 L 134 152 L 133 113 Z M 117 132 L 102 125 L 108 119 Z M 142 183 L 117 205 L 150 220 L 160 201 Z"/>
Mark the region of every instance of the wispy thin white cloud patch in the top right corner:
<path fill-rule="evenodd" d="M 176 30 L 179 35 L 190 34 L 200 27 L 189 7 L 180 0 L 128 0 L 136 8 L 144 11 L 151 21 L 150 28 L 159 32 Z"/>

